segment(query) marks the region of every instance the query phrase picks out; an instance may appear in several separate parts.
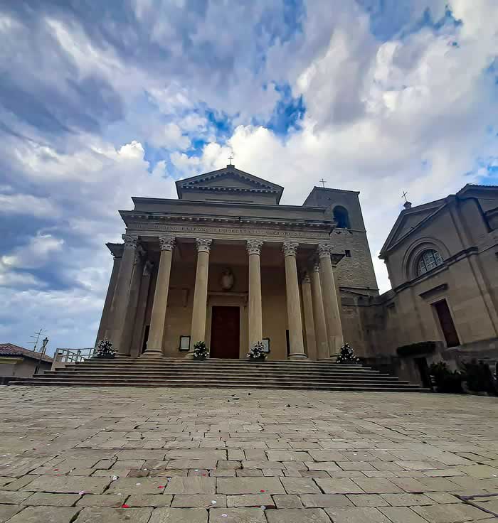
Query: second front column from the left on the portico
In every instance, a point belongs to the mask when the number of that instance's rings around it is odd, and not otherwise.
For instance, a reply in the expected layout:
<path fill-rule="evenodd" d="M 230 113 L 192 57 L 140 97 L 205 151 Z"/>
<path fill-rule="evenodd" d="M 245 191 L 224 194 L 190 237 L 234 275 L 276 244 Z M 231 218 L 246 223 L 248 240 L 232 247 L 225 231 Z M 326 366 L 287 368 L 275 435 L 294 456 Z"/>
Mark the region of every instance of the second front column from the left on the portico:
<path fill-rule="evenodd" d="M 148 355 L 152 355 L 154 352 L 161 355 L 164 349 L 163 339 L 166 325 L 166 307 L 168 305 L 169 275 L 171 274 L 174 244 L 174 236 L 159 237 L 161 257 L 159 258 L 156 289 L 154 291 L 154 301 L 152 302 L 149 340 L 147 342 L 147 350 L 145 351 Z"/>

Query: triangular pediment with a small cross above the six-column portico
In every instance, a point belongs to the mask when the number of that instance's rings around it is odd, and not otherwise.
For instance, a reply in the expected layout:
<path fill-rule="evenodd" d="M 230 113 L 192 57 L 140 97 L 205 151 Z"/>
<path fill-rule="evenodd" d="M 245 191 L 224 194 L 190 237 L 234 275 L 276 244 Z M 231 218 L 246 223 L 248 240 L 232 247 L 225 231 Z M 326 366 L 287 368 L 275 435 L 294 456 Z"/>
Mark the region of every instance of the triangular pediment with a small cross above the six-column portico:
<path fill-rule="evenodd" d="M 189 193 L 265 193 L 275 195 L 280 200 L 283 187 L 250 173 L 240 171 L 234 166 L 210 173 L 203 173 L 176 182 L 179 198 L 189 198 Z"/>

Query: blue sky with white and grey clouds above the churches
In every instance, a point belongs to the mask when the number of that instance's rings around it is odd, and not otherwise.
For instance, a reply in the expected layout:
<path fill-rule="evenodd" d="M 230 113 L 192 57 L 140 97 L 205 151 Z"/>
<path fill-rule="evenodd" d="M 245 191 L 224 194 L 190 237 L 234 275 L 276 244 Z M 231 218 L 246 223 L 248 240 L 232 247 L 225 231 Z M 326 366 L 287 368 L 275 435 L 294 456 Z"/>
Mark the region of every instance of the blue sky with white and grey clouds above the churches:
<path fill-rule="evenodd" d="M 130 197 L 226 165 L 301 204 L 361 191 L 378 249 L 401 193 L 498 183 L 496 0 L 0 3 L 0 343 L 95 341 Z"/>

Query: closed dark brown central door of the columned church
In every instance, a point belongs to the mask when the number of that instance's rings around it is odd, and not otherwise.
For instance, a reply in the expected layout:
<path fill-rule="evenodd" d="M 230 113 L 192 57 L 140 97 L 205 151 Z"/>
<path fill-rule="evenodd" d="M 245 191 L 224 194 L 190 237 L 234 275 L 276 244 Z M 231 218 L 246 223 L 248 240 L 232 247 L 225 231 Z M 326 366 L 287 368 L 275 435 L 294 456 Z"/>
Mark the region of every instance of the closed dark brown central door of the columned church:
<path fill-rule="evenodd" d="M 239 308 L 213 307 L 210 357 L 230 357 L 238 360 L 239 347 Z"/>

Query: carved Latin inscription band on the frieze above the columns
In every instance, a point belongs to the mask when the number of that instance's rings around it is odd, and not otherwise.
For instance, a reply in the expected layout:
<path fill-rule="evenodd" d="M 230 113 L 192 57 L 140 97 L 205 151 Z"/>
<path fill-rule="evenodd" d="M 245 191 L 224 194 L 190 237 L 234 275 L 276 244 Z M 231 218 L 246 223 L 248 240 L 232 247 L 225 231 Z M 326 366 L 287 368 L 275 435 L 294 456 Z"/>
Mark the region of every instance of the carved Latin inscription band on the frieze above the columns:
<path fill-rule="evenodd" d="M 329 236 L 327 231 L 285 231 L 279 229 L 251 229 L 241 227 L 206 227 L 195 225 L 164 225 L 162 223 L 154 222 L 136 222 L 129 225 L 129 230 L 147 230 L 147 231 L 161 231 L 174 232 L 176 234 L 186 233 L 195 237 L 196 234 L 221 234 L 228 236 L 265 236 L 277 238 L 309 238 L 309 239 L 323 239 Z"/>

